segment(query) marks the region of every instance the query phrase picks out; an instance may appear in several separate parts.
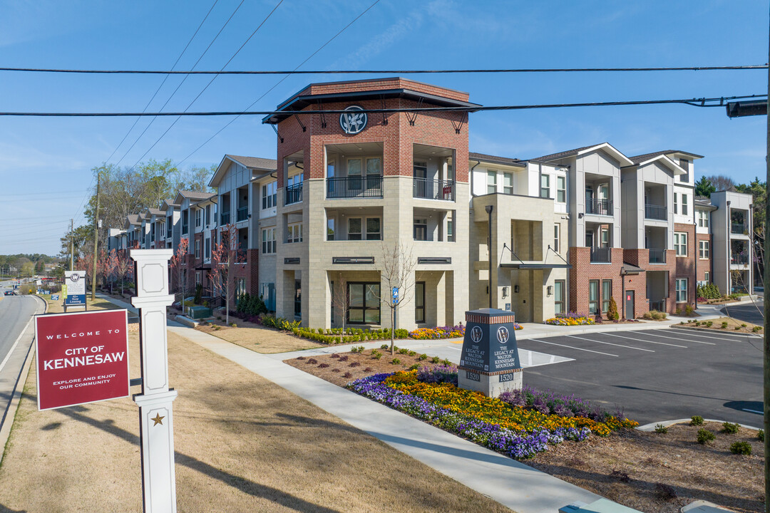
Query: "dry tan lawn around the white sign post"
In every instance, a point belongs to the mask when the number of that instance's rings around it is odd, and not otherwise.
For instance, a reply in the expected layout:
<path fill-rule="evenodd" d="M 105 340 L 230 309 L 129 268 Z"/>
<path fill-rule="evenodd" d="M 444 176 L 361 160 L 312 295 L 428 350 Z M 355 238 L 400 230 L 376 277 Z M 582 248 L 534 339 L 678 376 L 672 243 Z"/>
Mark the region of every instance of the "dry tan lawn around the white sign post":
<path fill-rule="evenodd" d="M 169 372 L 179 511 L 510 511 L 172 333 Z M 0 467 L 0 511 L 141 511 L 136 405 L 36 411 L 35 393 L 33 364 Z"/>

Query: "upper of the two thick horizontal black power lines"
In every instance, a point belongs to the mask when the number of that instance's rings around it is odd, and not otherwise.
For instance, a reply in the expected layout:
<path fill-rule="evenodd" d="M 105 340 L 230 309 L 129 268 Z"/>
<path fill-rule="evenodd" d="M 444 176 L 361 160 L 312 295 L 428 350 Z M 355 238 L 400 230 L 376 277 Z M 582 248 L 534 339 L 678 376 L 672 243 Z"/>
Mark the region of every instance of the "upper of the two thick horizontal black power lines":
<path fill-rule="evenodd" d="M 194 66 L 193 66 L 194 68 Z M 451 73 L 587 73 L 587 72 L 713 72 L 768 69 L 766 64 L 731 66 L 653 66 L 647 68 L 477 68 L 477 69 L 322 69 L 322 70 L 238 70 L 215 71 L 170 71 L 149 69 L 63 69 L 63 68 L 2 68 L 0 72 L 34 73 L 81 73 L 101 75 L 427 75 Z"/>

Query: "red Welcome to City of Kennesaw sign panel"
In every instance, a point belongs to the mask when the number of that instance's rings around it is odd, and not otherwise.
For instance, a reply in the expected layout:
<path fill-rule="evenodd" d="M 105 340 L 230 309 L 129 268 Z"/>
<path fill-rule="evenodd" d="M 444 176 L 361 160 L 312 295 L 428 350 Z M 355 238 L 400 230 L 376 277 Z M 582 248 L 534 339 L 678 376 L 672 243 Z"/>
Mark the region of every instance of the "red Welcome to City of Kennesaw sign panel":
<path fill-rule="evenodd" d="M 63 408 L 129 395 L 128 311 L 35 317 L 38 408 Z"/>

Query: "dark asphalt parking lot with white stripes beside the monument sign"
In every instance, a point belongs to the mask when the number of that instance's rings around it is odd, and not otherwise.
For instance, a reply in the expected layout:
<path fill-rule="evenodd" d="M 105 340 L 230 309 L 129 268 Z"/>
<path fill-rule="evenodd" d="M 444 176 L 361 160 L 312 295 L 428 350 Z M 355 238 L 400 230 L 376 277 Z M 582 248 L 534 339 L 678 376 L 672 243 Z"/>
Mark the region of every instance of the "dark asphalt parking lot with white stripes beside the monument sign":
<path fill-rule="evenodd" d="M 762 338 L 678 328 L 519 341 L 572 358 L 524 369 L 524 385 L 574 394 L 641 425 L 701 415 L 762 425 Z"/>

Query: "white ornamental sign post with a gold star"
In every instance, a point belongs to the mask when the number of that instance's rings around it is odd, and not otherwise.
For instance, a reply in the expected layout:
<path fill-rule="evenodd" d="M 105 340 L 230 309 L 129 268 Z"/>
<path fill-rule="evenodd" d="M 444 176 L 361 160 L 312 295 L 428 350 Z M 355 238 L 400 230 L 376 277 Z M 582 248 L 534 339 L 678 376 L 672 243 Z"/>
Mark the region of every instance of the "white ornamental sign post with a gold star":
<path fill-rule="evenodd" d="M 134 395 L 139 406 L 139 438 L 142 445 L 142 494 L 146 513 L 176 513 L 174 431 L 172 403 L 176 391 L 169 388 L 169 351 L 166 338 L 166 307 L 169 295 L 169 258 L 172 249 L 132 249 L 136 262 L 136 297 L 139 308 L 139 340 L 142 345 L 142 393 Z"/>

